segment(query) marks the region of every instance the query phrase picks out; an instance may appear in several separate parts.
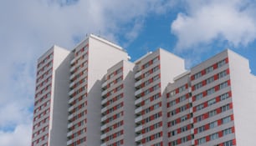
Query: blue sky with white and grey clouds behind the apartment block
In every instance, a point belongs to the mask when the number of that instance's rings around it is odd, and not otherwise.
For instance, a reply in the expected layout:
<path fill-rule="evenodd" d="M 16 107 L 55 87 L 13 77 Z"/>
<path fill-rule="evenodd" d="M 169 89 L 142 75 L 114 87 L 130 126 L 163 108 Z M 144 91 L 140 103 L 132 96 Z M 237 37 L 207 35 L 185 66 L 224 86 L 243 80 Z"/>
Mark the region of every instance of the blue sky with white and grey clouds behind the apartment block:
<path fill-rule="evenodd" d="M 53 44 L 73 49 L 86 33 L 119 44 L 132 60 L 165 48 L 187 68 L 230 48 L 256 74 L 254 0 L 1 0 L 1 146 L 31 143 L 37 58 Z"/>

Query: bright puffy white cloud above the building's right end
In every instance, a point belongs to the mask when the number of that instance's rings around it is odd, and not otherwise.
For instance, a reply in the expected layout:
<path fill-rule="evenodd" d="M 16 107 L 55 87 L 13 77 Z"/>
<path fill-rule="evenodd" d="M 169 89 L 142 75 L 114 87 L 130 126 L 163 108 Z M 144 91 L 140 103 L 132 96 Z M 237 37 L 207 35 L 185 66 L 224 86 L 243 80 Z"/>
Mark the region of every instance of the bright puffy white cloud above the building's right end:
<path fill-rule="evenodd" d="M 216 40 L 233 47 L 247 46 L 256 38 L 255 5 L 242 0 L 183 1 L 187 13 L 179 13 L 172 22 L 177 50 L 197 48 Z"/>

